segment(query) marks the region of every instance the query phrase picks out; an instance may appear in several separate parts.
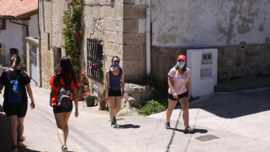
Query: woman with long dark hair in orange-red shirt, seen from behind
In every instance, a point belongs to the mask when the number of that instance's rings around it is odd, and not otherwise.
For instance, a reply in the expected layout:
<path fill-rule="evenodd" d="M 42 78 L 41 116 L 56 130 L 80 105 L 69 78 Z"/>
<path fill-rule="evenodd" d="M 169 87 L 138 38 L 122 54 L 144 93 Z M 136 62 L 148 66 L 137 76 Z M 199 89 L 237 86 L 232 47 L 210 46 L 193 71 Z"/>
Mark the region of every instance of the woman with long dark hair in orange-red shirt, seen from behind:
<path fill-rule="evenodd" d="M 57 134 L 61 142 L 61 150 L 62 152 L 67 152 L 67 122 L 73 108 L 72 99 L 75 101 L 75 117 L 79 116 L 77 98 L 77 86 L 79 85 L 79 82 L 76 78 L 73 65 L 71 64 L 69 58 L 62 57 L 59 60 L 58 67 L 60 72 L 56 72 L 50 80 L 50 85 L 52 86 L 50 94 L 50 106 L 53 107 L 53 113 L 57 125 Z M 57 97 L 60 95 L 60 88 L 62 92 L 63 86 L 66 87 L 68 91 L 72 92 L 70 92 L 70 103 L 68 107 L 61 106 L 61 104 L 58 102 L 60 99 L 57 99 Z"/>

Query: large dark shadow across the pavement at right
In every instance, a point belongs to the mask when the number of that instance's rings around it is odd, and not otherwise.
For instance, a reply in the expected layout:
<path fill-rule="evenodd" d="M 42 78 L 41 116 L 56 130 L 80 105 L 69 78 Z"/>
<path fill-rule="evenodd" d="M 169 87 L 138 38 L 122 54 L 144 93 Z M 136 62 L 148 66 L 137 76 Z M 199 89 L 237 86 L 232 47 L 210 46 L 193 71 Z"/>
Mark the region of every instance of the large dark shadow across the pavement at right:
<path fill-rule="evenodd" d="M 189 108 L 200 108 L 219 117 L 233 119 L 270 110 L 269 92 L 270 89 L 216 93 L 204 101 L 192 103 Z"/>

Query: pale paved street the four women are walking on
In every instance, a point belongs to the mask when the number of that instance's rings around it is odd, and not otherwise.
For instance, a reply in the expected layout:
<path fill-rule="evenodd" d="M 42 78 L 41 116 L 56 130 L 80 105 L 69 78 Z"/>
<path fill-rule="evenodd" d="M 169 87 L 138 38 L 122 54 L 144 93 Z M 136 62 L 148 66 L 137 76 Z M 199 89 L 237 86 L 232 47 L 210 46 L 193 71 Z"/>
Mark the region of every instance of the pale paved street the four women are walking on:
<path fill-rule="evenodd" d="M 181 107 L 172 114 L 171 130 L 164 127 L 165 112 L 148 117 L 117 117 L 118 128 L 110 128 L 109 113 L 79 102 L 79 117 L 73 109 L 69 119 L 68 150 L 91 151 L 269 151 L 270 88 L 240 92 L 219 92 L 190 103 L 190 126 L 194 134 L 183 132 Z M 36 108 L 25 117 L 24 146 L 19 151 L 59 152 L 60 141 L 52 108 L 50 90 L 33 86 Z M 0 97 L 0 104 L 3 98 Z M 8 122 L 0 107 L 0 151 L 11 147 Z M 213 135 L 217 139 L 195 138 Z M 202 138 L 201 138 L 202 139 Z M 206 140 L 206 138 L 204 138 Z M 210 139 L 210 138 L 209 138 Z"/>

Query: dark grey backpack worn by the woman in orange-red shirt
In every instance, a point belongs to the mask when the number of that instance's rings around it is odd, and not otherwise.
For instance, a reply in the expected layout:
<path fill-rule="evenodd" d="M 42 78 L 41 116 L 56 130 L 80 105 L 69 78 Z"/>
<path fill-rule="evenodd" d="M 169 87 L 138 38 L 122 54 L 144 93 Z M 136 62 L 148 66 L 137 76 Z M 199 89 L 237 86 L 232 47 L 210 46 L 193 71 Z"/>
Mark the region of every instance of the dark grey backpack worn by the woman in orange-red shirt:
<path fill-rule="evenodd" d="M 70 105 L 71 100 L 71 92 L 67 86 L 69 85 L 62 85 L 60 80 L 56 77 L 56 74 L 54 75 L 55 79 L 58 81 L 58 84 L 60 85 L 59 92 L 57 94 L 56 102 L 57 106 L 68 108 Z"/>

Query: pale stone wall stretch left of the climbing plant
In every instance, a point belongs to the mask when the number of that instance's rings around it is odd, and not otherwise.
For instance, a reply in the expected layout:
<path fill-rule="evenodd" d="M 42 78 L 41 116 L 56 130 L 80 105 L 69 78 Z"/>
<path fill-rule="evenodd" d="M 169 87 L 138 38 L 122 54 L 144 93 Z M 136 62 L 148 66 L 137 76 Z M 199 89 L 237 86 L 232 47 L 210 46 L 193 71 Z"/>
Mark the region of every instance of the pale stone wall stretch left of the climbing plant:
<path fill-rule="evenodd" d="M 62 17 L 67 9 L 66 0 L 41 1 L 39 6 L 39 26 L 41 31 L 41 75 L 42 87 L 49 89 L 49 81 L 58 64 L 57 50 L 64 44 Z M 62 56 L 65 52 L 62 50 Z"/>

